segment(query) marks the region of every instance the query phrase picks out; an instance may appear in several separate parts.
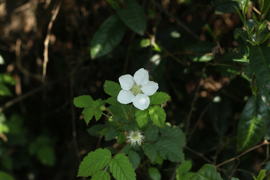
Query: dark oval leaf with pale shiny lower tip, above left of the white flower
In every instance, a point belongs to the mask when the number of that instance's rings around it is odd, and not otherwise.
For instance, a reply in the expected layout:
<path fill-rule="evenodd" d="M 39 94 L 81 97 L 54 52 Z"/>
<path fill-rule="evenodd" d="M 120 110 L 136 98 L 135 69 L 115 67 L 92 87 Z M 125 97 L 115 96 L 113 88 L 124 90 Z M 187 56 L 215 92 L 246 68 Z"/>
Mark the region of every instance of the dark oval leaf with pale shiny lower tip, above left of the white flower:
<path fill-rule="evenodd" d="M 125 32 L 125 25 L 117 15 L 108 17 L 95 32 L 91 41 L 91 58 L 100 57 L 116 47 Z"/>

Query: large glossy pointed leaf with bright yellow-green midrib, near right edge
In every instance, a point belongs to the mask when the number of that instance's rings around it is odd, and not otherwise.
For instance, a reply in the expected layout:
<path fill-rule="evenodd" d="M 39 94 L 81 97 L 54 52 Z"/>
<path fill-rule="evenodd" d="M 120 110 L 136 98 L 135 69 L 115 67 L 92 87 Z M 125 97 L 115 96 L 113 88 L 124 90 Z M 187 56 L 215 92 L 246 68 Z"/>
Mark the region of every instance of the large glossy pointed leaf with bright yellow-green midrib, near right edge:
<path fill-rule="evenodd" d="M 263 136 L 268 119 L 268 111 L 258 94 L 252 94 L 246 102 L 237 128 L 237 150 L 253 147 Z"/>

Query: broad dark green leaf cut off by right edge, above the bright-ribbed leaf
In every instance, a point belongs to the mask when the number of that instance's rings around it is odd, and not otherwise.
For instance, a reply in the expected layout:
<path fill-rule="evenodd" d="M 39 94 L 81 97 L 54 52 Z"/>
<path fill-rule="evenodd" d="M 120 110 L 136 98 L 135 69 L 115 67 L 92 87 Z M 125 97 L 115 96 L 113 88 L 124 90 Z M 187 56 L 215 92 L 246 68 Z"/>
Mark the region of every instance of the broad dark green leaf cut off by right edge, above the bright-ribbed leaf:
<path fill-rule="evenodd" d="M 250 46 L 248 58 L 251 70 L 265 89 L 270 92 L 270 47 Z"/>

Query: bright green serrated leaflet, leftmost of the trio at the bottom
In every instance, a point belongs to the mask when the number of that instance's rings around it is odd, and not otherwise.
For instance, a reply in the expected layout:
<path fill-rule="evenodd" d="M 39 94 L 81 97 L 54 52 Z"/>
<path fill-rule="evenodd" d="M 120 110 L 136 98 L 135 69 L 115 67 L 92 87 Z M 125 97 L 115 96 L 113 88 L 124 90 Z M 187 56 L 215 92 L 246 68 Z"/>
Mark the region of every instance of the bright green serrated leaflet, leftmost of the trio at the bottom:
<path fill-rule="evenodd" d="M 98 148 L 89 152 L 80 162 L 77 177 L 93 175 L 108 164 L 110 159 L 111 153 L 106 148 Z"/>

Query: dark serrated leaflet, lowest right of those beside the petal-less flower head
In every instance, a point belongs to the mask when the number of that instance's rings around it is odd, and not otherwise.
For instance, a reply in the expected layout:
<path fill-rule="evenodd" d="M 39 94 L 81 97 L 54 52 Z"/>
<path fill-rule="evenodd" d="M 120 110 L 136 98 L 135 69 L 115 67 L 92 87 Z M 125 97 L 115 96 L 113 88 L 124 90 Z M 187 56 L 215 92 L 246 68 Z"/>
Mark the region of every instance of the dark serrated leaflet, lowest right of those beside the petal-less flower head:
<path fill-rule="evenodd" d="M 172 140 L 159 140 L 154 144 L 160 156 L 172 162 L 184 162 L 184 154 L 181 147 Z"/>

